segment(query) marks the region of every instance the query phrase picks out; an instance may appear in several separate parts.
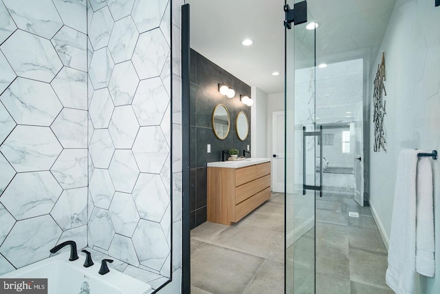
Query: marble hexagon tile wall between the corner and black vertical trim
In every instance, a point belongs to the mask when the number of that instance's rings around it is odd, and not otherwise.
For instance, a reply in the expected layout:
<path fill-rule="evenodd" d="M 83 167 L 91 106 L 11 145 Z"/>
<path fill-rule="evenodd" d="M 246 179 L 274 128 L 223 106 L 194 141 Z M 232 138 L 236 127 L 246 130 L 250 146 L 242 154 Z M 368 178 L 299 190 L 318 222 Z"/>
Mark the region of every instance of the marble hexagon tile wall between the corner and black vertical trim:
<path fill-rule="evenodd" d="M 170 4 L 90 0 L 87 8 L 88 246 L 155 286 L 172 271 Z"/>

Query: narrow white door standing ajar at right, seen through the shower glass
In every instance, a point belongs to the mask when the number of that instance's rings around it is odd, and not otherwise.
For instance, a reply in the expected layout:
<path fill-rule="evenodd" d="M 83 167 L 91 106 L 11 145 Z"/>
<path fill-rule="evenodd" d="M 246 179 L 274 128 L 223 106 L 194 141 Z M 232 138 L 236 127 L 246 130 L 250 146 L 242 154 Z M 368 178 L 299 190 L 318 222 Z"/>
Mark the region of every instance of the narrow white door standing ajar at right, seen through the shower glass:
<path fill-rule="evenodd" d="M 364 207 L 364 161 L 363 161 L 363 148 L 362 148 L 362 121 L 356 121 L 350 123 L 350 145 L 353 146 L 354 154 L 354 173 L 355 173 L 355 201 L 361 207 Z"/>

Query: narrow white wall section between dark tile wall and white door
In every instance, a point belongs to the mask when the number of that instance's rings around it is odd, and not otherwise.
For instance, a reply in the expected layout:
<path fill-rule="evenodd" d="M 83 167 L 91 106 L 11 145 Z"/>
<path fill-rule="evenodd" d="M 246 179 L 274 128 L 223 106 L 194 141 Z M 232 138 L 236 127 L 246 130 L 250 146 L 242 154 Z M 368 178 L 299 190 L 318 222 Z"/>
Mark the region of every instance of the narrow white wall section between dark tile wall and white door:
<path fill-rule="evenodd" d="M 254 105 L 251 107 L 251 156 L 267 157 L 267 94 L 251 87 Z"/>

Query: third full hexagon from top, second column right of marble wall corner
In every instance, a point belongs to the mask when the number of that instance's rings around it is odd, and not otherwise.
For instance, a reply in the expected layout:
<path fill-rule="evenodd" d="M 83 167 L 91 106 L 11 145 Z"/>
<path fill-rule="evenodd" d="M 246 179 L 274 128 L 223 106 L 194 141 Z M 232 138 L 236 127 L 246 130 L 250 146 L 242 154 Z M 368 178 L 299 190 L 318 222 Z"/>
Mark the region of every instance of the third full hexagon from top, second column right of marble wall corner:
<path fill-rule="evenodd" d="M 130 149 L 138 129 L 139 123 L 130 105 L 115 107 L 109 132 L 116 149 Z"/>

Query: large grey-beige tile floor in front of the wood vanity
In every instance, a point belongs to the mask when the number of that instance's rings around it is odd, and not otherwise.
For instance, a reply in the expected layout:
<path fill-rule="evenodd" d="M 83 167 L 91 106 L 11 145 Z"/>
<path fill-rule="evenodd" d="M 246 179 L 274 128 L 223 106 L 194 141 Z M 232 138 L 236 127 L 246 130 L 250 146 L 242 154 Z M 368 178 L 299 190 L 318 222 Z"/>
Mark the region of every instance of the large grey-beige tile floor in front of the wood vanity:
<path fill-rule="evenodd" d="M 284 206 L 284 195 L 272 193 L 232 226 L 206 222 L 192 229 L 191 293 L 284 293 Z M 349 218 L 349 211 L 359 218 Z M 386 249 L 369 207 L 325 193 L 316 198 L 315 229 L 317 294 L 393 293 L 385 284 Z M 315 229 L 287 250 L 296 294 L 314 293 Z"/>

